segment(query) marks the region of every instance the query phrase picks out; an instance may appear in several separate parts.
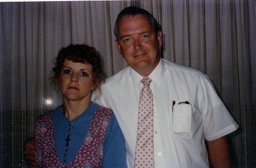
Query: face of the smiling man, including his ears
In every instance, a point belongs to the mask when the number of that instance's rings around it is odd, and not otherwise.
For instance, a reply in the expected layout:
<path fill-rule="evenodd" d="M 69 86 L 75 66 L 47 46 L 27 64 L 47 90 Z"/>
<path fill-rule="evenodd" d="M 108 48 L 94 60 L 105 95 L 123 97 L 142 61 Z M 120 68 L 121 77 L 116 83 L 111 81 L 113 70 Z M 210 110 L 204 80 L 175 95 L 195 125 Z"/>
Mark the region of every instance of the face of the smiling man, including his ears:
<path fill-rule="evenodd" d="M 118 24 L 115 45 L 130 67 L 146 77 L 160 61 L 162 32 L 155 33 L 154 27 L 144 15 L 125 16 Z"/>

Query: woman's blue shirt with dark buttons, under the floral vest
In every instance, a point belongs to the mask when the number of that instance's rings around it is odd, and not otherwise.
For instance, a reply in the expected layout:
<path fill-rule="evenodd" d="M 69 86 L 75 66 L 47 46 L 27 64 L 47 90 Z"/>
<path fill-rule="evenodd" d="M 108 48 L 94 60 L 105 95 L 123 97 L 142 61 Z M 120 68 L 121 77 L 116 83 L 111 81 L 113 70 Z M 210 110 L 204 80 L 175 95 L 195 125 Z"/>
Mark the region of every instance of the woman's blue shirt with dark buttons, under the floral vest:
<path fill-rule="evenodd" d="M 56 150 L 65 165 L 72 162 L 81 148 L 97 107 L 98 105 L 92 102 L 84 113 L 72 121 L 61 113 L 61 106 L 53 110 Z M 68 147 L 66 147 L 68 133 L 71 140 L 68 141 Z M 114 113 L 109 118 L 103 148 L 102 167 L 126 167 L 125 141 Z"/>

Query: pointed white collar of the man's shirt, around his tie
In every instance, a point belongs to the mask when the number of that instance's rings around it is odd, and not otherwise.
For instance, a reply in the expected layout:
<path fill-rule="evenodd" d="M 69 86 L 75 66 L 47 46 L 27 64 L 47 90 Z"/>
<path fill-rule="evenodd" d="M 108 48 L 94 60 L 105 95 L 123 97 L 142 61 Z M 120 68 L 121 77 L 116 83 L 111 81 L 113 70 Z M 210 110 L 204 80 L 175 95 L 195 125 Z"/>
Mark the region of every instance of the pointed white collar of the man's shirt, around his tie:
<path fill-rule="evenodd" d="M 133 85 L 138 87 L 139 83 L 141 83 L 141 80 L 143 79 L 143 76 L 139 75 L 131 67 L 129 67 L 129 72 L 130 72 L 131 80 L 133 81 Z M 152 79 L 154 83 L 160 86 L 160 83 L 163 77 L 163 72 L 164 72 L 164 63 L 161 58 L 158 63 L 158 66 L 155 67 L 155 69 L 151 72 L 151 74 L 148 77 L 150 77 L 150 79 Z"/>

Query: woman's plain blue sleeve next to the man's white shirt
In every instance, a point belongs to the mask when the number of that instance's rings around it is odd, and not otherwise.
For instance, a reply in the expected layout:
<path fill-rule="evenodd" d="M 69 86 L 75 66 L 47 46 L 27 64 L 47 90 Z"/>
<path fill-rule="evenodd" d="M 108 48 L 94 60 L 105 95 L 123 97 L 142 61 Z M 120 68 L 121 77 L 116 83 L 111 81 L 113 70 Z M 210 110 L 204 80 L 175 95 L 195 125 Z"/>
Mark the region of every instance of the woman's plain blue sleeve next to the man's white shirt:
<path fill-rule="evenodd" d="M 114 113 L 112 113 L 110 116 L 109 125 L 106 130 L 102 167 L 127 167 L 125 139 Z"/>

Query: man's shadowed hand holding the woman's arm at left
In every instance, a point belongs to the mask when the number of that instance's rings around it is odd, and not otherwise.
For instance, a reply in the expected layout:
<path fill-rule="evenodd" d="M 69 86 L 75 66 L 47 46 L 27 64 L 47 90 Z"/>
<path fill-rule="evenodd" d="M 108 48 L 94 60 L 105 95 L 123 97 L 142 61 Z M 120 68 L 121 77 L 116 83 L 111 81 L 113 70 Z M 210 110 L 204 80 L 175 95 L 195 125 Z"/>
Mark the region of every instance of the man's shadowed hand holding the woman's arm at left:
<path fill-rule="evenodd" d="M 31 167 L 36 167 L 35 139 L 27 140 L 24 144 L 24 158 Z"/>

